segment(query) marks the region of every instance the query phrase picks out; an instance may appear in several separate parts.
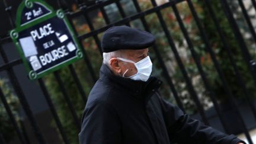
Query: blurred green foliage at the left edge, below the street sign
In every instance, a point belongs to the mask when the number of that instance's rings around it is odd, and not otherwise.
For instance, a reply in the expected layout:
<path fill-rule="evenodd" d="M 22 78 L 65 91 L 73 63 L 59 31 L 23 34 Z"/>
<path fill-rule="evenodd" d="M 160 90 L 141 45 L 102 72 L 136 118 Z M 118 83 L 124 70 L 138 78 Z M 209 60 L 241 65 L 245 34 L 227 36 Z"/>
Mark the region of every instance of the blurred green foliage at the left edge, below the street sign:
<path fill-rule="evenodd" d="M 20 105 L 13 89 L 9 87 L 7 79 L 0 78 L 0 88 L 5 96 L 9 108 L 12 111 L 12 114 L 14 115 L 15 120 L 18 121 L 18 109 L 20 108 Z M 10 123 L 9 116 L 3 103 L 0 103 L 0 123 L 0 132 L 5 141 L 11 141 L 15 135 L 15 129 L 12 123 Z"/>

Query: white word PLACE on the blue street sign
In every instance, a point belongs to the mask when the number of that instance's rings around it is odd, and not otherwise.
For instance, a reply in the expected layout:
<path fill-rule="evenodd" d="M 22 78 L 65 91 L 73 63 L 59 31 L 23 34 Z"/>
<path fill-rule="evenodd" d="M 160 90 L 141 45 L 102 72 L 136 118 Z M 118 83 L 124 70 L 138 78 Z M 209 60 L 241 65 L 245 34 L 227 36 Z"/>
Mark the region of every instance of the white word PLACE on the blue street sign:
<path fill-rule="evenodd" d="M 50 34 L 55 33 L 55 31 L 52 29 L 51 24 L 46 24 L 43 27 L 40 27 L 38 30 L 30 31 L 31 36 L 33 37 L 33 40 L 40 40 L 45 36 L 49 36 Z"/>

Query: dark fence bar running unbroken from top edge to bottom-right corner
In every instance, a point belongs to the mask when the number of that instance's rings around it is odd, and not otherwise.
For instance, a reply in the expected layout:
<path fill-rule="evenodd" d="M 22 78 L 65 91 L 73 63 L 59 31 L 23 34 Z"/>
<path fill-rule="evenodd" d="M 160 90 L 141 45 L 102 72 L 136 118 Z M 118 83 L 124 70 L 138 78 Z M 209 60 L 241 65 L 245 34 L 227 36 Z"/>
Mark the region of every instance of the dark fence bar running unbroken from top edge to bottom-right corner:
<path fill-rule="evenodd" d="M 223 75 L 223 72 L 220 69 L 219 63 L 217 62 L 215 53 L 213 52 L 213 50 L 210 47 L 209 39 L 208 39 L 208 37 L 207 37 L 207 35 L 206 35 L 206 33 L 205 33 L 201 23 L 200 23 L 200 20 L 199 20 L 199 17 L 197 15 L 197 13 L 196 13 L 196 10 L 194 9 L 194 6 L 193 6 L 193 4 L 192 4 L 192 2 L 190 0 L 187 0 L 187 3 L 188 3 L 188 7 L 190 8 L 190 11 L 191 11 L 194 19 L 196 20 L 196 24 L 199 27 L 199 31 L 200 31 L 201 37 L 202 37 L 204 43 L 206 44 L 206 48 L 209 51 L 210 56 L 212 57 L 213 63 L 215 64 L 215 68 L 217 69 L 217 72 L 219 73 L 220 80 L 223 83 L 223 87 L 225 87 L 226 93 L 229 95 L 229 98 L 231 98 L 231 102 L 233 104 L 233 108 L 235 108 L 235 112 L 236 112 L 236 114 L 238 116 L 239 122 L 241 123 L 242 130 L 244 131 L 245 136 L 247 136 L 247 139 L 248 139 L 249 143 L 251 144 L 252 143 L 251 136 L 249 135 L 249 132 L 248 132 L 247 127 L 245 126 L 244 120 L 242 119 L 242 116 L 239 113 L 238 107 L 237 107 L 235 101 L 233 100 L 233 94 L 231 92 L 231 89 L 229 89 L 228 83 L 226 82 L 226 79 L 225 79 L 225 76 Z"/>

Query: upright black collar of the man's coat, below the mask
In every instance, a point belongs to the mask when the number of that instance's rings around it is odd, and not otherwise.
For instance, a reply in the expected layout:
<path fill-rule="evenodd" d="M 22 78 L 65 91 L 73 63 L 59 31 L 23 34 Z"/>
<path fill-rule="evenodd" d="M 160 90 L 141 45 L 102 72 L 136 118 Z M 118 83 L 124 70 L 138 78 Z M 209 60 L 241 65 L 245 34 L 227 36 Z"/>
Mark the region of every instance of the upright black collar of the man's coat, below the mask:
<path fill-rule="evenodd" d="M 134 81 L 129 78 L 123 78 L 121 76 L 114 75 L 111 72 L 110 68 L 107 65 L 102 65 L 100 69 L 100 79 L 107 84 L 119 88 L 124 92 L 128 92 L 129 94 L 142 98 L 142 95 L 148 95 L 149 91 L 155 92 L 161 86 L 162 81 L 151 76 L 148 81 Z"/>

